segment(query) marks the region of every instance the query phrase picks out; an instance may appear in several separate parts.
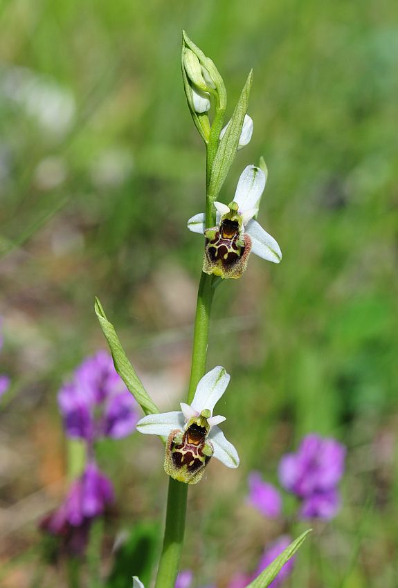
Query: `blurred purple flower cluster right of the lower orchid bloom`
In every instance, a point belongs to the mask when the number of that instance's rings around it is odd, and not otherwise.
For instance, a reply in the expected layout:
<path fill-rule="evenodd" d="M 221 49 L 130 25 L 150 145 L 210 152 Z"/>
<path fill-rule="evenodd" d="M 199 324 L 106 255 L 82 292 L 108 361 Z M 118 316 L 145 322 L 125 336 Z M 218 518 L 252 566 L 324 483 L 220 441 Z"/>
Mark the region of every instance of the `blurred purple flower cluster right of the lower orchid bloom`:
<path fill-rule="evenodd" d="M 282 457 L 280 483 L 302 499 L 300 516 L 334 517 L 339 507 L 337 484 L 343 476 L 345 447 L 335 439 L 309 434 L 298 451 Z"/>

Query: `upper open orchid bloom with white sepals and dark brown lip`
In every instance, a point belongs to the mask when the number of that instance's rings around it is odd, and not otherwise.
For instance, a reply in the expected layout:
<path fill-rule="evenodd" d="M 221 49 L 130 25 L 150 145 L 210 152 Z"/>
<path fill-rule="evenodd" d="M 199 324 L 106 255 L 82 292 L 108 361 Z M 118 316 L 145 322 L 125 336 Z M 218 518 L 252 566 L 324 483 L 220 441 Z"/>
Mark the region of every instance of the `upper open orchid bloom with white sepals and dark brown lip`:
<path fill-rule="evenodd" d="M 206 228 L 204 213 L 189 219 L 188 229 L 204 233 L 206 237 L 204 273 L 222 278 L 241 277 L 251 251 L 262 259 L 279 264 L 282 259 L 280 246 L 253 219 L 258 212 L 265 183 L 266 175 L 262 169 L 248 165 L 239 178 L 233 201 L 228 206 L 215 202 L 217 226 Z"/>

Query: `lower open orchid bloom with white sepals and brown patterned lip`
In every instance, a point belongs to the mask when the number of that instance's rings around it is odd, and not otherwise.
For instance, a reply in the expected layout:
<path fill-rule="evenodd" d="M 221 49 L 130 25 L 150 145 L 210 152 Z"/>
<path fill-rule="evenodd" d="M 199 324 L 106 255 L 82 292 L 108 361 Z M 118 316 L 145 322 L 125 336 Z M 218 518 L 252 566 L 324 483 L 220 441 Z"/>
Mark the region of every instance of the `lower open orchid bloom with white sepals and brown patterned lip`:
<path fill-rule="evenodd" d="M 212 416 L 229 380 L 224 367 L 217 366 L 201 378 L 192 404 L 181 403 L 181 412 L 148 414 L 138 421 L 139 432 L 168 437 L 164 467 L 172 478 L 197 484 L 211 457 L 227 468 L 239 466 L 237 450 L 217 427 L 225 416 Z"/>

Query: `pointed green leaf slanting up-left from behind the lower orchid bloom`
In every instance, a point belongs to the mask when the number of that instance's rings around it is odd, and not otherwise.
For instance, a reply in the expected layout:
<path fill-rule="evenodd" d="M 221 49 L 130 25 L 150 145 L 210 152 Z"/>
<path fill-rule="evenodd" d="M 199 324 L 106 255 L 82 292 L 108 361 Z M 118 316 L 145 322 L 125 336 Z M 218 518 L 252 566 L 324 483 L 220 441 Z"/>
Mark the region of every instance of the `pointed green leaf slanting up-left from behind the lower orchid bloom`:
<path fill-rule="evenodd" d="M 107 339 L 109 349 L 111 350 L 112 358 L 114 360 L 114 366 L 120 378 L 122 378 L 127 389 L 132 393 L 145 414 L 154 414 L 159 412 L 158 407 L 152 401 L 152 398 L 150 398 L 150 395 L 143 387 L 143 383 L 141 382 L 140 378 L 138 378 L 134 367 L 129 362 L 127 355 L 123 350 L 122 344 L 116 335 L 114 325 L 111 324 L 109 320 L 107 320 L 107 315 L 105 315 L 105 311 L 97 297 L 94 304 L 94 309 L 96 311 L 97 318 L 100 321 L 102 332 Z"/>

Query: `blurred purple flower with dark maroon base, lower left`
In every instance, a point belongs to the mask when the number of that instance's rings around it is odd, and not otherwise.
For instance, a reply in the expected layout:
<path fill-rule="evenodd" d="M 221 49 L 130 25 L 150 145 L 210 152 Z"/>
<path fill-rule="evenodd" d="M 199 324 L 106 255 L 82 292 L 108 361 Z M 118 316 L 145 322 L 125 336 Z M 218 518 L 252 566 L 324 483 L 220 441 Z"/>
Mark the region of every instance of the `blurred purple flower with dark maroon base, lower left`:
<path fill-rule="evenodd" d="M 40 526 L 51 535 L 63 537 L 69 551 L 81 554 L 87 544 L 91 523 L 113 502 L 111 481 L 91 461 L 80 478 L 73 481 L 61 506 Z"/>

